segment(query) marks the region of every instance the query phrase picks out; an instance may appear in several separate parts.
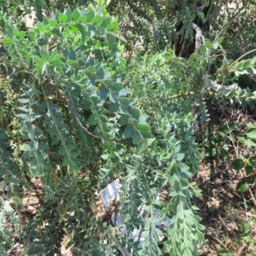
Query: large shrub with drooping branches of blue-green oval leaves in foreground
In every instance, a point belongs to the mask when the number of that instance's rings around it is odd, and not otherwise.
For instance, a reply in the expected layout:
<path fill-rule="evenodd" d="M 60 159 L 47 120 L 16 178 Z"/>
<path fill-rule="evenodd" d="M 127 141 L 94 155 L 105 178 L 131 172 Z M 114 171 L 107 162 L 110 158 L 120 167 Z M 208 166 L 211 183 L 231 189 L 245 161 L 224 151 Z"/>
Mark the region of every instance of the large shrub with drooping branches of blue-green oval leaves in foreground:
<path fill-rule="evenodd" d="M 39 2 L 43 1 L 35 1 Z M 198 207 L 191 204 L 191 198 L 201 195 L 200 189 L 189 182 L 199 169 L 195 125 L 208 120 L 205 98 L 223 106 L 229 102 L 254 108 L 256 92 L 242 90 L 236 82 L 241 74 L 256 74 L 256 59 L 246 59 L 249 51 L 229 63 L 221 45 L 224 38 L 217 36 L 212 42 L 205 39 L 189 58 L 177 57 L 168 49 L 155 54 L 138 52 L 127 64 L 124 34 L 118 32 L 117 18 L 107 11 L 115 13 L 111 10 L 114 5 L 95 2 L 86 8 L 65 8 L 51 18 L 37 13 L 41 22 L 28 31 L 19 30 L 8 15 L 1 15 L 1 44 L 6 50 L 0 56 L 4 77 L 0 187 L 6 198 L 12 198 L 19 216 L 22 253 L 60 253 L 61 240 L 67 235 L 68 246 L 74 246 L 80 255 L 117 255 L 118 246 L 132 250 L 133 255 L 196 255 L 196 244 L 204 242 L 204 226 L 196 213 Z M 162 18 L 170 17 L 174 10 L 148 12 L 161 4 L 152 2 L 141 5 L 147 22 L 162 20 L 161 28 L 170 29 L 170 21 Z M 45 1 L 45 8 L 58 8 L 49 3 Z M 118 8 L 119 12 L 131 10 L 127 17 L 122 15 L 120 27 L 132 33 L 125 19 L 144 9 L 128 3 Z M 182 28 L 191 36 L 192 17 L 202 13 L 196 11 L 195 3 L 185 3 L 186 8 L 180 8 L 188 12 L 180 13 L 178 21 L 184 22 Z M 143 28 L 141 20 L 134 28 Z M 159 27 L 154 29 L 163 36 Z M 152 39 L 149 33 L 152 30 L 145 34 L 144 43 Z M 169 30 L 166 33 L 170 35 Z M 170 43 L 159 35 L 156 41 L 148 41 L 155 51 Z M 156 42 L 166 44 L 157 48 Z M 218 72 L 211 76 L 209 67 L 219 61 Z M 44 190 L 44 205 L 29 223 L 22 215 L 20 200 L 20 186 L 31 189 L 26 175 L 40 177 Z M 116 177 L 122 182 L 120 201 L 126 228 L 141 226 L 141 235 L 149 236 L 142 248 L 93 213 L 99 200 L 95 191 Z M 163 188 L 168 189 L 168 202 L 157 199 Z M 141 205 L 147 218 L 138 216 Z M 5 208 L 2 213 L 12 215 L 11 222 L 17 225 L 17 216 L 8 213 L 12 212 L 8 204 Z M 154 216 L 154 209 L 161 209 L 161 220 Z M 171 221 L 164 234 L 154 221 L 166 217 Z M 1 227 L 0 238 L 6 236 L 8 241 L 0 245 L 4 253 L 11 241 Z M 166 241 L 159 247 L 161 235 Z"/>

